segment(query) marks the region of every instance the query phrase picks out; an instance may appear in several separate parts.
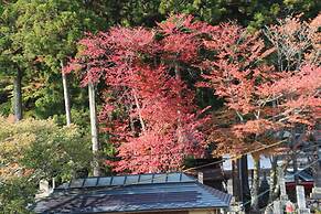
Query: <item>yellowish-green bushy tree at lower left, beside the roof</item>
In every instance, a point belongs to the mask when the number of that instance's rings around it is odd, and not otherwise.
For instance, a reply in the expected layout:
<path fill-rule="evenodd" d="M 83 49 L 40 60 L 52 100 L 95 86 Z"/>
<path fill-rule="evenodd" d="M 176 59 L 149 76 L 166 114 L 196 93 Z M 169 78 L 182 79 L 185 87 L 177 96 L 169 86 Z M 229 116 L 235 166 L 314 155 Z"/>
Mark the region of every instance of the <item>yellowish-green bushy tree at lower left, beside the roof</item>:
<path fill-rule="evenodd" d="M 66 181 L 89 171 L 89 140 L 53 120 L 0 118 L 0 213 L 23 213 L 42 179 Z M 77 148 L 77 149 L 75 149 Z"/>

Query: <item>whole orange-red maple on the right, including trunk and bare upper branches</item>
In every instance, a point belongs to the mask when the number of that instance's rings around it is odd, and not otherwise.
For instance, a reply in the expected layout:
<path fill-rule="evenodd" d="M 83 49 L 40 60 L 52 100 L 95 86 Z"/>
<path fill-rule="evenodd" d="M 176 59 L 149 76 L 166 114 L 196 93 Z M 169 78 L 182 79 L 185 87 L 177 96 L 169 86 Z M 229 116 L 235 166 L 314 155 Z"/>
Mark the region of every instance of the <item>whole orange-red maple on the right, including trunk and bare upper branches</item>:
<path fill-rule="evenodd" d="M 233 23 L 222 24 L 204 40 L 215 54 L 204 61 L 199 86 L 212 88 L 225 103 L 214 116 L 210 140 L 217 143 L 218 156 L 256 151 L 254 210 L 258 208 L 258 154 L 275 152 L 281 142 L 297 147 L 297 133 L 309 133 L 320 119 L 321 67 L 315 49 L 320 24 L 312 23 L 295 18 L 271 26 L 265 32 L 271 44 L 264 42 L 261 32 L 250 35 Z M 286 140 L 285 132 L 290 133 Z"/>

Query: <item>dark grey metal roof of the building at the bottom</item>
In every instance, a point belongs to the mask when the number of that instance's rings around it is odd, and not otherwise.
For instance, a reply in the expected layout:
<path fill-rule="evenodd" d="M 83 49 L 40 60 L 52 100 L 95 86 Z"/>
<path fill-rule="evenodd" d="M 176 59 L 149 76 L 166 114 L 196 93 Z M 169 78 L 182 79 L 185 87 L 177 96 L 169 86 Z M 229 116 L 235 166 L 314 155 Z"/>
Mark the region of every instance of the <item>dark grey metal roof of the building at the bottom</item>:
<path fill-rule="evenodd" d="M 136 176 L 143 175 L 117 176 L 120 185 L 114 185 L 110 181 L 105 186 L 99 185 L 99 181 L 107 181 L 107 178 L 85 179 L 74 181 L 74 184 L 71 182 L 69 188 L 66 188 L 67 184 L 60 186 L 49 197 L 39 201 L 34 211 L 43 214 L 181 211 L 228 207 L 232 199 L 232 195 L 203 185 L 182 173 L 146 176 L 151 182 L 147 182 L 147 179 L 143 182 L 142 178 L 139 182 Z M 135 183 L 126 182 L 122 178 L 130 178 Z"/>

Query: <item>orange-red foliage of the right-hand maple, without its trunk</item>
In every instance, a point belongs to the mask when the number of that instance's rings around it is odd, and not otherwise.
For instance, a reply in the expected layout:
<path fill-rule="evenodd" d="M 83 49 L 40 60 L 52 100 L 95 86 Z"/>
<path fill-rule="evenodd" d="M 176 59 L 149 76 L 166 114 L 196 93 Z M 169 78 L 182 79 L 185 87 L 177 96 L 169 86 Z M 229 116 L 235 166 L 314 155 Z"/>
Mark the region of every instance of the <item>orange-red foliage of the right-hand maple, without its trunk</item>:
<path fill-rule="evenodd" d="M 289 25 L 298 29 L 300 23 L 297 21 L 272 29 L 288 31 Z M 300 33 L 308 33 L 310 40 L 307 43 L 315 36 L 306 30 Z M 289 46 L 300 43 L 293 41 L 295 36 L 288 38 Z M 213 88 L 227 107 L 223 113 L 227 118 L 214 120 L 213 140 L 218 143 L 216 153 L 228 149 L 229 153 L 244 153 L 268 146 L 278 140 L 281 131 L 291 132 L 304 126 L 311 128 L 320 119 L 321 69 L 318 65 L 304 65 L 296 56 L 287 67 L 270 66 L 265 58 L 279 51 L 278 46 L 266 45 L 259 32 L 247 35 L 245 30 L 231 23 L 221 25 L 221 30 L 213 32 L 204 44 L 216 55 L 204 62 L 207 73 L 199 86 Z M 307 47 L 303 51 L 312 53 Z"/>

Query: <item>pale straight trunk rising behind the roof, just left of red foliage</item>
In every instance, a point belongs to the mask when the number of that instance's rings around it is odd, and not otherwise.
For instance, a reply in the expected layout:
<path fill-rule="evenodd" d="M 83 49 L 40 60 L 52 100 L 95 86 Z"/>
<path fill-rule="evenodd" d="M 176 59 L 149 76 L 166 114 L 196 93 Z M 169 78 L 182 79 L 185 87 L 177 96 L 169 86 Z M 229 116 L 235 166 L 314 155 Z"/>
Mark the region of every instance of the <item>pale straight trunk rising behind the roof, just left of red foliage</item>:
<path fill-rule="evenodd" d="M 90 110 L 90 128 L 92 128 L 92 143 L 93 143 L 93 174 L 94 176 L 100 175 L 99 169 L 99 141 L 98 141 L 98 129 L 97 129 L 97 114 L 96 114 L 96 101 L 95 101 L 95 87 L 93 83 L 88 83 L 88 95 L 89 95 L 89 110 Z"/>

